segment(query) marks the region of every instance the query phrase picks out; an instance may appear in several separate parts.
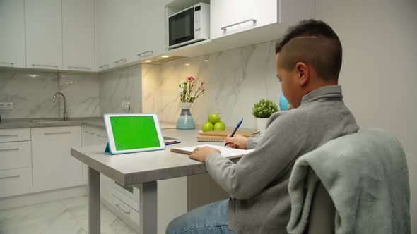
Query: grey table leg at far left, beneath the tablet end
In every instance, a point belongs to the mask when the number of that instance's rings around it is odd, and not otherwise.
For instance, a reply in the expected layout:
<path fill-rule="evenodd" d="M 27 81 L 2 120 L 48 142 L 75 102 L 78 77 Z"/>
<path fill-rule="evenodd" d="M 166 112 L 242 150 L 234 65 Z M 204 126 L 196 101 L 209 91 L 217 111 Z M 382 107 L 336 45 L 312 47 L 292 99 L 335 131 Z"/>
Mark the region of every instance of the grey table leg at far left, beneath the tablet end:
<path fill-rule="evenodd" d="M 88 233 L 100 234 L 100 173 L 88 167 Z"/>

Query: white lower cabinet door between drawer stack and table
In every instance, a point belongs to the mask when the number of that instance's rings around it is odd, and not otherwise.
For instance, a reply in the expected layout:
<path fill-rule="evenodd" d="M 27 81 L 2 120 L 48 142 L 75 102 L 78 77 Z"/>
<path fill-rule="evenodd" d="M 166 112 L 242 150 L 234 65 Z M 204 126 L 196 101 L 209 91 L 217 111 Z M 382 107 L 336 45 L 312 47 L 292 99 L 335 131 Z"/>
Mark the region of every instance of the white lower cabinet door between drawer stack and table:
<path fill-rule="evenodd" d="M 33 192 L 82 185 L 81 162 L 71 147 L 81 146 L 81 126 L 32 128 Z"/>

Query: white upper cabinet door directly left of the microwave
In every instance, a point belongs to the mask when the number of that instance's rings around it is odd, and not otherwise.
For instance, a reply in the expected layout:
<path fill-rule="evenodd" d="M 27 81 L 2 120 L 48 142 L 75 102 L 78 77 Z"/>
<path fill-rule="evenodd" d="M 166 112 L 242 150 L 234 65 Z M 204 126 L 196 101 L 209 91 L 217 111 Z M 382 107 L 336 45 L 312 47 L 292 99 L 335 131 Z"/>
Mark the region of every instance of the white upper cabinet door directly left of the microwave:
<path fill-rule="evenodd" d="M 136 14 L 131 27 L 133 49 L 129 51 L 134 60 L 141 60 L 165 51 L 165 4 L 167 0 L 134 2 Z"/>

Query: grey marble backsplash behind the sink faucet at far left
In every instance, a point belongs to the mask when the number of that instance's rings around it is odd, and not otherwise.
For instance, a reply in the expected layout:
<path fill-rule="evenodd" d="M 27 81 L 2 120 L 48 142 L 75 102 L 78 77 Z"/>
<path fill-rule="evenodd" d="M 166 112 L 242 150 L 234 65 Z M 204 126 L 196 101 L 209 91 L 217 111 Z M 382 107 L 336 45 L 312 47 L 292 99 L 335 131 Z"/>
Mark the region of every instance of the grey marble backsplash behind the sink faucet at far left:
<path fill-rule="evenodd" d="M 13 109 L 0 110 L 1 118 L 62 117 L 62 92 L 68 103 L 69 117 L 100 116 L 97 75 L 0 70 L 0 101 L 13 102 Z"/>

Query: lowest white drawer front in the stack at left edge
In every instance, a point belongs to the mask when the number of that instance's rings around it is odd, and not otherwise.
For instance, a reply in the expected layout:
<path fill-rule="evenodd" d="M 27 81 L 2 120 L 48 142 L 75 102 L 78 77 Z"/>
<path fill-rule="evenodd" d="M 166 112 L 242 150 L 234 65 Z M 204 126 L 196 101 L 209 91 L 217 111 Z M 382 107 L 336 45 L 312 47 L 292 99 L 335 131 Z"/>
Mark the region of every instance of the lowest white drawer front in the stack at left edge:
<path fill-rule="evenodd" d="M 33 192 L 32 168 L 0 171 L 0 197 Z"/>

